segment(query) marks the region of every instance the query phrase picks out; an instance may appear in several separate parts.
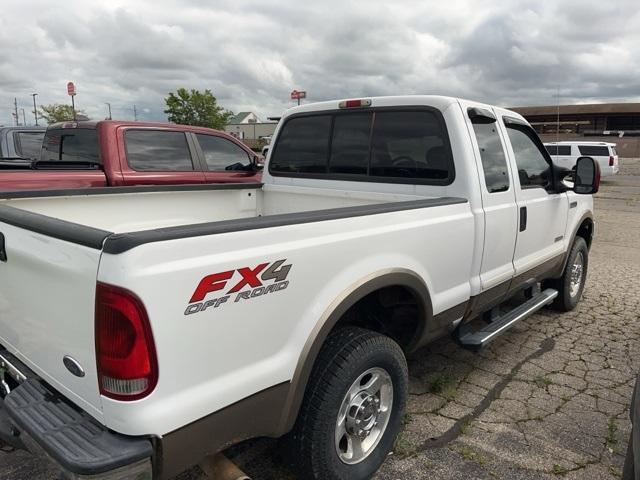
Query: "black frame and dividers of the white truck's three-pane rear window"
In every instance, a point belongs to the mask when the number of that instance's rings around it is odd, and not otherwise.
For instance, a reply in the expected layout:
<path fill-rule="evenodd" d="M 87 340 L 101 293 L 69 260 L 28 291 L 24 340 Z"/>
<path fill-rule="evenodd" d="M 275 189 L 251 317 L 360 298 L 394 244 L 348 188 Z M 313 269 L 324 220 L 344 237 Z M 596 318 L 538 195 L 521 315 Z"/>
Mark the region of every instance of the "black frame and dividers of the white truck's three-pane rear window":
<path fill-rule="evenodd" d="M 362 174 L 336 174 L 336 173 L 297 173 L 297 172 L 279 172 L 272 170 L 272 162 L 269 161 L 269 174 L 272 177 L 284 177 L 284 178 L 309 178 L 309 179 L 320 179 L 320 180 L 340 180 L 346 182 L 369 182 L 369 183 L 399 183 L 399 184 L 409 184 L 409 185 L 433 185 L 433 186 L 447 186 L 451 185 L 456 179 L 456 168 L 455 168 L 455 159 L 453 158 L 453 151 L 451 149 L 451 141 L 449 138 L 449 130 L 447 129 L 447 123 L 444 120 L 444 116 L 442 112 L 435 107 L 430 107 L 427 105 L 407 105 L 407 106 L 393 106 L 393 107 L 373 107 L 373 108 L 358 108 L 352 110 L 341 110 L 341 109 L 333 109 L 333 110 L 320 110 L 314 112 L 303 112 L 296 113 L 289 117 L 287 117 L 279 127 L 278 137 L 281 132 L 286 127 L 287 123 L 295 118 L 303 118 L 303 117 L 314 117 L 314 116 L 323 116 L 328 115 L 331 117 L 331 126 L 329 130 L 329 146 L 327 149 L 327 165 L 329 165 L 329 160 L 331 157 L 331 143 L 333 139 L 333 127 L 334 127 L 334 119 L 337 115 L 349 115 L 355 112 L 372 112 L 373 119 L 371 122 L 371 131 L 375 126 L 375 114 L 376 112 L 391 112 L 391 113 L 404 113 L 404 112 L 429 112 L 434 115 L 438 125 L 440 126 L 442 132 L 442 142 L 443 147 L 451 159 L 451 176 L 445 180 L 439 179 L 424 179 L 424 178 L 409 178 L 409 177 L 384 177 L 384 176 L 369 176 Z M 273 152 L 271 153 L 270 158 L 273 158 L 278 149 L 279 138 L 276 139 L 276 143 L 274 145 Z M 367 172 L 371 168 L 371 139 L 369 140 L 369 162 L 367 167 Z"/>

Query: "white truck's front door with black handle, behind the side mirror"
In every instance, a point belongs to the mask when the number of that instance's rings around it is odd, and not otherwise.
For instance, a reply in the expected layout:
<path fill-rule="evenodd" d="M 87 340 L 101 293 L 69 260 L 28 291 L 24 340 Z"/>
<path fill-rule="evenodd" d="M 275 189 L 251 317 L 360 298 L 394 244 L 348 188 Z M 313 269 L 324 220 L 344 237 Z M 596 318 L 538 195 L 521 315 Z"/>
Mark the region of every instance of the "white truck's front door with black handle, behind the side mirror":
<path fill-rule="evenodd" d="M 569 211 L 566 193 L 549 189 L 551 158 L 535 131 L 520 119 L 503 116 L 511 167 L 517 175 L 518 237 L 513 256 L 523 280 L 551 268 L 565 249 Z"/>

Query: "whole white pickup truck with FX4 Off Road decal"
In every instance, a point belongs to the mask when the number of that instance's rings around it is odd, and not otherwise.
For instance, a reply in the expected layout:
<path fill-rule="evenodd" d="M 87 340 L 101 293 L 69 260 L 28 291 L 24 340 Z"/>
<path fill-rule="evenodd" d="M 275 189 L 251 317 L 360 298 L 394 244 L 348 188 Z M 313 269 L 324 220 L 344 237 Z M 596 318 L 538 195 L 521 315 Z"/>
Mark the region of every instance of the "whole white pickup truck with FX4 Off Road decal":
<path fill-rule="evenodd" d="M 598 168 L 553 166 L 514 112 L 292 108 L 263 180 L 0 194 L 0 438 L 73 478 L 168 479 L 287 434 L 300 478 L 365 479 L 407 352 L 581 296 Z"/>

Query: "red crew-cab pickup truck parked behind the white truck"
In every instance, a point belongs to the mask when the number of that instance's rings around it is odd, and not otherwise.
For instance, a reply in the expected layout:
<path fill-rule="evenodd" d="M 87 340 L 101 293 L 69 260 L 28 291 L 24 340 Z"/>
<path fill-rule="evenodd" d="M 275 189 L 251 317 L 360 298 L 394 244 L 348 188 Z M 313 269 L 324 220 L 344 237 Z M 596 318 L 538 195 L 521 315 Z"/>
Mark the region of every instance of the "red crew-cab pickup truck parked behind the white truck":
<path fill-rule="evenodd" d="M 104 120 L 50 125 L 39 160 L 0 162 L 0 190 L 260 181 L 261 157 L 209 128 Z"/>

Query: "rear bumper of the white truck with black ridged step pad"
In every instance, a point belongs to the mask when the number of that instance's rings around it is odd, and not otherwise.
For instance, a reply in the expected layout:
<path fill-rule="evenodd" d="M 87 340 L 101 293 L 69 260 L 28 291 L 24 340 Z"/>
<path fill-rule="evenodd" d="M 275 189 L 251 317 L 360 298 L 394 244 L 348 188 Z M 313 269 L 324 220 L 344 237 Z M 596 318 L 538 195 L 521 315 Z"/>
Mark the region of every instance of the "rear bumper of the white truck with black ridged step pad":
<path fill-rule="evenodd" d="M 69 478 L 153 476 L 149 439 L 110 432 L 36 378 L 28 378 L 0 400 L 0 439 L 48 457 Z"/>

